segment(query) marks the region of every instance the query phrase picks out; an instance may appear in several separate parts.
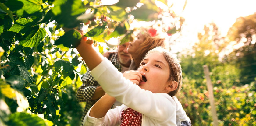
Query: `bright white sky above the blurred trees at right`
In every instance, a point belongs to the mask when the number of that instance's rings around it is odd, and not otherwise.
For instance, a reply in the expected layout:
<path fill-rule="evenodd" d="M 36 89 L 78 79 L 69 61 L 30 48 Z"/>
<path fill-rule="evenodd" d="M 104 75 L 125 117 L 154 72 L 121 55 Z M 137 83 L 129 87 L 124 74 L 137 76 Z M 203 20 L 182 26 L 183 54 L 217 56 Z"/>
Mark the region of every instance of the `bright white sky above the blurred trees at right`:
<path fill-rule="evenodd" d="M 169 0 L 173 2 L 174 11 L 185 18 L 180 42 L 172 45 L 173 52 L 190 48 L 197 41 L 197 33 L 205 24 L 214 22 L 223 36 L 236 22 L 236 18 L 248 16 L 256 12 L 256 0 Z"/>

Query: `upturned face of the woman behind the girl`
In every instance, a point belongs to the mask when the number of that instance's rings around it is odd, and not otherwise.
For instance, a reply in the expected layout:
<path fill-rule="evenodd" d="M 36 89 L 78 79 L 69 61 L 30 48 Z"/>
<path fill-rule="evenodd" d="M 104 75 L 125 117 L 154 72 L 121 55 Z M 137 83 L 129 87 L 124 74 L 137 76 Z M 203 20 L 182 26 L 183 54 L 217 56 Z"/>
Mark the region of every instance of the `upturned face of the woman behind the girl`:
<path fill-rule="evenodd" d="M 130 42 L 130 45 L 128 46 L 127 51 L 134 55 L 136 54 L 137 50 L 140 49 L 140 44 L 142 44 L 144 41 L 144 36 L 139 33 L 132 42 Z"/>

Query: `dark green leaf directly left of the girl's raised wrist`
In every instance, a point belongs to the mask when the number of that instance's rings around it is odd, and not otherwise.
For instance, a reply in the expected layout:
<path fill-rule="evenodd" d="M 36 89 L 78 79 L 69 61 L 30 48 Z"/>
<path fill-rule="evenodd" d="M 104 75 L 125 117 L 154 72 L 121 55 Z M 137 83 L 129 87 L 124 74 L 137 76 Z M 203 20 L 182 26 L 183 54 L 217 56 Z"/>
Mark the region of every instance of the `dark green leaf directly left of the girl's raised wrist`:
<path fill-rule="evenodd" d="M 70 30 L 63 36 L 59 37 L 54 45 L 63 44 L 66 47 L 77 47 L 80 44 L 82 36 L 81 33 L 76 30 Z"/>

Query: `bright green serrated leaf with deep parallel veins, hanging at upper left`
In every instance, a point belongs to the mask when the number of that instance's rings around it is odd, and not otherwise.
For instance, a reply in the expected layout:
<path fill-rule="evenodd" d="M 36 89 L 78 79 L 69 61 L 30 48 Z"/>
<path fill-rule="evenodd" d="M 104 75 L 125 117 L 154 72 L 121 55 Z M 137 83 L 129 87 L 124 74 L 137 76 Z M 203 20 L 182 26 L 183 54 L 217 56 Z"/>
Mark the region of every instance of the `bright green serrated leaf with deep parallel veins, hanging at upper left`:
<path fill-rule="evenodd" d="M 25 33 L 25 39 L 20 41 L 20 44 L 24 47 L 37 47 L 37 45 L 44 39 L 46 31 L 44 28 L 34 28 L 31 31 Z"/>

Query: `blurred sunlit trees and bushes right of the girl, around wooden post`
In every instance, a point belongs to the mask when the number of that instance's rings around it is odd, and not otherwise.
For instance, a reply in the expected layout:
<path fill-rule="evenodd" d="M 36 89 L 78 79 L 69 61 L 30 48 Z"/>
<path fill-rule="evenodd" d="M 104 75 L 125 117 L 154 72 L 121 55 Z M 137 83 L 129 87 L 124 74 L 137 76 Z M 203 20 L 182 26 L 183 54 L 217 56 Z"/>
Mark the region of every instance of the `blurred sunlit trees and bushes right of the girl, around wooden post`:
<path fill-rule="evenodd" d="M 192 125 L 212 125 L 203 65 L 208 65 L 219 125 L 255 126 L 256 13 L 240 17 L 223 37 L 210 23 L 192 50 L 178 54 L 183 68 L 179 100 Z"/>

